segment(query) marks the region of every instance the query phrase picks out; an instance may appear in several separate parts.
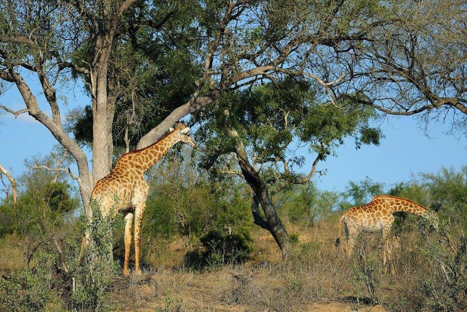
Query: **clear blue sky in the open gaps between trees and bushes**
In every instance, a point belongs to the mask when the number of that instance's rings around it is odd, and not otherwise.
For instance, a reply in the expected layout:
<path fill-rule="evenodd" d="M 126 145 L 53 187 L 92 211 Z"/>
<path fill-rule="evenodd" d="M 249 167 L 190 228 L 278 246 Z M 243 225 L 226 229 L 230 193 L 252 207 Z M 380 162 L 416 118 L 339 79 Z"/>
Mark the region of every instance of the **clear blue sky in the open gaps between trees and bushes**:
<path fill-rule="evenodd" d="M 49 112 L 43 96 L 38 92 L 37 82 L 26 79 L 34 86 L 39 104 Z M 84 106 L 89 99 L 79 85 L 63 87 L 62 94 L 68 97 L 67 105 L 61 103 L 62 114 L 69 109 Z M 0 96 L 0 104 L 11 109 L 24 108 L 16 88 L 11 86 Z M 27 114 L 14 119 L 12 115 L 0 115 L 0 163 L 18 176 L 27 168 L 23 160 L 38 153 L 46 155 L 57 142 L 48 130 Z M 391 184 L 410 178 L 411 173 L 434 172 L 441 166 L 453 166 L 456 170 L 467 164 L 467 139 L 445 135 L 449 125 L 431 124 L 429 136 L 413 117 L 388 116 L 378 121 L 385 136 L 379 147 L 363 146 L 355 150 L 353 139 L 347 139 L 338 148 L 337 157 L 329 156 L 318 164 L 318 170 L 327 169 L 324 176 L 315 178 L 321 189 L 341 191 L 349 180 L 360 181 L 366 176 L 374 181 Z M 89 153 L 88 153 L 89 155 Z M 301 171 L 309 171 L 313 156 L 306 159 Z"/>

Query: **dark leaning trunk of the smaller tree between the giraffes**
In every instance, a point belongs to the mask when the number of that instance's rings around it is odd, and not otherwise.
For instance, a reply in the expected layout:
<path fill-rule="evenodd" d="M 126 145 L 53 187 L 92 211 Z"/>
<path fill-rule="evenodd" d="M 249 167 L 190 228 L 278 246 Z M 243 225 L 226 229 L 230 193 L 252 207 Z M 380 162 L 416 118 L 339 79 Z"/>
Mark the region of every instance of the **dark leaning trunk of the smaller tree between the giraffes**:
<path fill-rule="evenodd" d="M 231 138 L 238 136 L 235 130 L 229 131 L 228 134 Z M 238 142 L 236 144 L 235 152 L 241 173 L 243 174 L 246 183 L 248 183 L 254 192 L 253 201 L 251 203 L 251 213 L 253 214 L 254 224 L 259 225 L 271 233 L 280 248 L 282 259 L 286 260 L 293 252 L 290 237 L 288 236 L 282 221 L 280 221 L 277 216 L 277 212 L 275 211 L 267 186 L 259 176 L 259 173 L 249 163 L 243 143 Z M 259 214 L 259 205 L 261 205 L 261 209 L 264 212 L 266 219 Z"/>

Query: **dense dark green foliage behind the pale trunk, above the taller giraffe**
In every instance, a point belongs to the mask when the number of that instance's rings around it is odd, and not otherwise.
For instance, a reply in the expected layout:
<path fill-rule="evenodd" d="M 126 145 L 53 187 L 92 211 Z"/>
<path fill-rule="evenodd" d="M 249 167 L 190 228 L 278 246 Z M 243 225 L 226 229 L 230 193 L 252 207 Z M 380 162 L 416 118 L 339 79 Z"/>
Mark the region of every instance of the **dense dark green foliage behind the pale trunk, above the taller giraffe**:
<path fill-rule="evenodd" d="M 122 24 L 127 32 L 121 35 L 123 40 L 114 42 L 111 53 L 108 76 L 120 89 L 112 123 L 112 138 L 117 149 L 125 146 L 126 127 L 130 148 L 135 148 L 144 134 L 189 100 L 196 89 L 195 81 L 202 76 L 196 54 L 200 47 L 197 33 L 200 29 L 199 25 L 194 26 L 194 21 L 203 20 L 202 15 L 208 12 L 201 12 L 201 4 L 185 0 L 176 5 L 162 2 L 141 6 L 140 13 L 132 13 L 137 17 L 132 14 L 124 17 Z M 218 8 L 219 4 L 214 6 Z M 170 18 L 163 24 L 163 32 L 154 33 L 154 29 L 147 26 L 135 29 L 134 21 L 141 18 L 140 14 L 154 22 L 163 20 L 167 14 Z M 203 26 L 217 26 L 214 21 L 206 20 Z M 74 53 L 74 61 L 86 67 L 82 61 L 92 62 L 88 60 L 89 55 L 88 45 L 83 45 Z M 68 130 L 78 142 L 92 143 L 91 105 L 74 114 L 69 122 Z"/>

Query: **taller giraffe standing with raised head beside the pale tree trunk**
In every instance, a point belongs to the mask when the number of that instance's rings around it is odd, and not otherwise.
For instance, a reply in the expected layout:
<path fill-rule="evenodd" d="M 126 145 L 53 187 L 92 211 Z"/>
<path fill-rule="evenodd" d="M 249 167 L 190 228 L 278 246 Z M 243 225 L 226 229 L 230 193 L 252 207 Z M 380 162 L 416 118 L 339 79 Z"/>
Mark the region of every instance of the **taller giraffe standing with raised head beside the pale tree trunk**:
<path fill-rule="evenodd" d="M 189 135 L 189 128 L 184 122 L 178 122 L 175 129 L 170 128 L 169 133 L 159 141 L 146 148 L 125 153 L 117 160 L 112 172 L 94 186 L 91 199 L 95 200 L 102 216 L 122 212 L 125 220 L 125 257 L 123 262 L 123 275 L 128 275 L 128 258 L 131 244 L 131 223 L 134 214 L 134 273 L 140 274 L 139 268 L 139 241 L 141 220 L 146 206 L 146 197 L 149 186 L 144 179 L 144 173 L 149 170 L 168 150 L 177 142 L 189 144 L 196 148 L 196 144 Z M 86 232 L 82 247 L 88 243 L 89 234 Z M 81 255 L 83 248 L 81 247 Z"/>

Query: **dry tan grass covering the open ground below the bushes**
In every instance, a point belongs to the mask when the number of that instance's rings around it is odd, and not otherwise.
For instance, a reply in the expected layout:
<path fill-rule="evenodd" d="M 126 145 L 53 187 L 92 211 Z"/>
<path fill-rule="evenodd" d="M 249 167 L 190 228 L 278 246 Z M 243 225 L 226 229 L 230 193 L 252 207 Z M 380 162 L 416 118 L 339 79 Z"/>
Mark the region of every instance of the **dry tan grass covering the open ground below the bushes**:
<path fill-rule="evenodd" d="M 420 288 L 432 268 L 420 254 L 416 232 L 404 233 L 394 244 L 393 271 L 379 263 L 381 242 L 360 246 L 373 264 L 374 293 L 358 272 L 358 254 L 347 259 L 334 247 L 337 219 L 312 227 L 286 225 L 299 233 L 295 254 L 285 263 L 268 232 L 255 228 L 254 251 L 241 265 L 193 269 L 180 266 L 186 253 L 181 239 L 145 244 L 142 276 L 118 277 L 110 289 L 111 310 L 118 311 L 428 311 Z M 0 250 L 0 268 L 24 265 L 18 239 Z M 6 247 L 5 247 L 6 246 Z M 9 247 L 7 247 L 9 246 Z M 370 262 L 368 262 L 370 263 Z M 360 272 L 361 273 L 361 272 Z M 374 305 L 378 303 L 377 305 Z"/>

